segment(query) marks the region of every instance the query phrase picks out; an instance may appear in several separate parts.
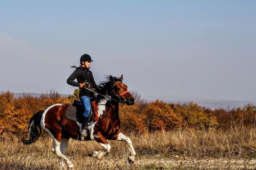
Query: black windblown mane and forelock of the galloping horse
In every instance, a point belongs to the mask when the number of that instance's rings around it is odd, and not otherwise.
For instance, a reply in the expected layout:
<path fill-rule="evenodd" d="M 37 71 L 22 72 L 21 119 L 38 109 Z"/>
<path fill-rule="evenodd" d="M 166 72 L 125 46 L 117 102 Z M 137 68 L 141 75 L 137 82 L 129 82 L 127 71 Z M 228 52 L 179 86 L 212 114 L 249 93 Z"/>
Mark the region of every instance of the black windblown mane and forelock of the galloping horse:
<path fill-rule="evenodd" d="M 101 95 L 106 95 L 106 92 L 108 92 L 108 95 L 109 95 L 109 91 L 108 90 L 111 90 L 111 86 L 112 86 L 112 83 L 110 81 L 110 76 L 106 76 L 106 81 L 102 81 L 99 83 L 98 85 L 98 88 L 99 88 L 99 94 Z M 116 78 L 116 77 L 113 77 L 114 79 L 114 82 L 116 81 L 122 81 L 120 78 Z M 97 102 L 100 103 L 100 101 L 105 98 L 104 96 L 101 96 L 101 95 L 98 95 L 97 97 Z"/>

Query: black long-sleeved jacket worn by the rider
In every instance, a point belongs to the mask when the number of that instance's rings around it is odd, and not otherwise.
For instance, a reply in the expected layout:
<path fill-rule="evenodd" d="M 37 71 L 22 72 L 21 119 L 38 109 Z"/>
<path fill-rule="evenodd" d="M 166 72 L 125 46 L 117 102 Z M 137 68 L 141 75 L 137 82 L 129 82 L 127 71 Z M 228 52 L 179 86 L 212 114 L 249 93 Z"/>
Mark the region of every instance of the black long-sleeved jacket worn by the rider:
<path fill-rule="evenodd" d="M 77 82 L 74 81 L 75 79 L 77 79 Z M 85 81 L 90 84 L 90 88 L 98 89 L 98 86 L 94 81 L 92 72 L 89 69 L 82 66 L 77 67 L 76 70 L 67 79 L 67 83 L 69 85 L 76 86 L 76 87 L 79 87 L 80 83 L 84 83 Z M 87 90 L 85 88 L 80 88 L 80 87 L 79 89 L 81 90 L 79 92 L 79 97 L 81 96 L 92 97 L 94 95 L 94 93 L 90 90 Z"/>

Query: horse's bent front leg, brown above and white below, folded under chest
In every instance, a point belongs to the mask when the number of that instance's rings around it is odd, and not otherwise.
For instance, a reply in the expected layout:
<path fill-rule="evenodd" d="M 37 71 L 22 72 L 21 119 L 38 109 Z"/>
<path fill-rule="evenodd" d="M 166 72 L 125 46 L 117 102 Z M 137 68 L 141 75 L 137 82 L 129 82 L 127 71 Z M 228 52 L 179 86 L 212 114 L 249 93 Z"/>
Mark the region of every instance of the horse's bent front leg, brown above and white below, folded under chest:
<path fill-rule="evenodd" d="M 95 141 L 97 141 L 100 144 L 100 146 L 102 146 L 104 148 L 104 150 L 103 151 L 94 151 L 92 153 L 92 156 L 101 159 L 103 156 L 105 156 L 110 151 L 111 146 L 109 145 L 109 143 L 107 142 L 105 137 L 103 137 L 101 132 L 94 134 L 93 139 Z"/>

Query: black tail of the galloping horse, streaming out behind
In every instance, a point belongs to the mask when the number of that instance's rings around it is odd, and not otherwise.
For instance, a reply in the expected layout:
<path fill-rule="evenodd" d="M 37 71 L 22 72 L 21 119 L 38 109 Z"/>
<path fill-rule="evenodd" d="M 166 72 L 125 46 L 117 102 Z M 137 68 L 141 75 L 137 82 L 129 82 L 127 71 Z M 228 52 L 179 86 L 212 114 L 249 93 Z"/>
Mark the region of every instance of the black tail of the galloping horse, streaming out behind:
<path fill-rule="evenodd" d="M 41 118 L 43 113 L 44 111 L 39 111 L 30 118 L 29 125 L 28 125 L 29 138 L 28 140 L 26 140 L 25 138 L 21 139 L 22 143 L 24 143 L 25 145 L 34 143 L 39 137 L 39 135 L 41 135 L 42 133 Z M 39 129 L 39 132 L 37 128 Z"/>

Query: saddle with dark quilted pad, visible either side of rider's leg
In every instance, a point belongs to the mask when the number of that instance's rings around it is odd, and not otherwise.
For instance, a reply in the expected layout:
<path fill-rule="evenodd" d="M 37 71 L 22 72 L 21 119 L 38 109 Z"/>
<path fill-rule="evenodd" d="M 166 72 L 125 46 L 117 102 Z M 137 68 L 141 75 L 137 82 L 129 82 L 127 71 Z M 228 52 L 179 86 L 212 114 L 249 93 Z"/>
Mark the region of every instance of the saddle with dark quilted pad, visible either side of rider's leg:
<path fill-rule="evenodd" d="M 88 117 L 88 122 L 96 122 L 99 120 L 98 108 L 98 103 L 96 103 L 96 101 L 92 101 L 91 112 Z M 74 103 L 68 107 L 65 113 L 65 117 L 67 118 L 67 120 L 83 123 L 83 113 L 84 107 L 81 101 L 75 100 Z"/>

